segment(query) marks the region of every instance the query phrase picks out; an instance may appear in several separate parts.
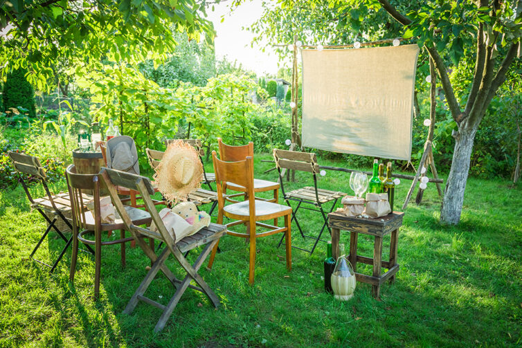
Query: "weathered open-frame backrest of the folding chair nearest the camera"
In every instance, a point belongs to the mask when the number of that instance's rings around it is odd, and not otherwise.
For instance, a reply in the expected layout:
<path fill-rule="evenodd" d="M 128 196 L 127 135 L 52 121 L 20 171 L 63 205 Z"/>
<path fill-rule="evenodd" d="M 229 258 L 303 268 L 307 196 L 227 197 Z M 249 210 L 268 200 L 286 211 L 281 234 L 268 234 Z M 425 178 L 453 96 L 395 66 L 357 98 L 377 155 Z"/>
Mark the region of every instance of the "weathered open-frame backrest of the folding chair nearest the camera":
<path fill-rule="evenodd" d="M 165 225 L 163 224 L 163 220 L 161 220 L 161 217 L 159 217 L 158 211 L 154 206 L 154 201 L 152 201 L 150 198 L 150 195 L 154 194 L 154 188 L 152 187 L 150 178 L 132 173 L 121 172 L 119 170 L 111 170 L 106 167 L 102 167 L 100 176 L 102 176 L 102 180 L 104 181 L 105 185 L 107 185 L 107 190 L 111 196 L 112 203 L 116 207 L 118 214 L 120 214 L 120 217 L 125 223 L 125 227 L 127 230 L 129 230 L 129 232 L 132 233 L 132 237 L 137 240 L 138 234 L 141 234 L 147 237 L 152 237 L 154 239 L 160 239 L 165 241 L 165 244 L 167 244 L 172 249 L 174 243 L 176 242 L 174 239 L 175 236 L 171 237 L 171 235 L 168 233 L 167 228 L 165 228 Z M 159 233 L 148 230 L 147 228 L 134 226 L 132 219 L 125 210 L 125 206 L 123 205 L 120 196 L 118 196 L 116 186 L 125 187 L 129 190 L 140 192 L 141 196 L 143 197 L 143 202 L 145 203 L 145 209 L 147 212 L 150 212 L 152 221 L 154 221 L 154 225 L 158 229 Z M 138 242 L 141 243 L 141 241 Z"/>

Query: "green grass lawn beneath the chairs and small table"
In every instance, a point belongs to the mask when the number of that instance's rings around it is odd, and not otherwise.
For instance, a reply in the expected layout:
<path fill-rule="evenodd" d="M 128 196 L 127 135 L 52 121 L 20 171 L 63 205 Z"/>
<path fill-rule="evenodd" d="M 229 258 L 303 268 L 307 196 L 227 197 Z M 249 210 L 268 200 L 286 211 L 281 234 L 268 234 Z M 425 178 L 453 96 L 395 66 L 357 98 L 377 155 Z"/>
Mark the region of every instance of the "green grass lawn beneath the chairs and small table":
<path fill-rule="evenodd" d="M 271 165 L 256 155 L 256 177 Z M 321 161 L 324 165 L 342 163 Z M 210 169 L 210 165 L 208 168 Z M 306 173 L 291 187 L 309 185 Z M 402 205 L 411 181 L 397 187 Z M 350 192 L 348 174 L 327 172 L 319 185 Z M 188 289 L 161 333 L 153 329 L 160 311 L 143 302 L 122 313 L 149 264 L 139 248 L 127 248 L 120 268 L 119 246 L 102 249 L 101 298 L 92 300 L 93 257 L 80 253 L 74 284 L 71 253 L 53 275 L 28 259 L 45 228 L 17 187 L 0 193 L 0 347 L 521 347 L 522 185 L 469 178 L 459 226 L 438 222 L 440 198 L 429 184 L 422 205 L 411 203 L 399 233 L 399 272 L 381 288 L 381 302 L 368 284 L 357 284 L 349 302 L 323 291 L 325 244 L 312 257 L 293 250 L 293 270 L 285 268 L 278 235 L 258 239 L 255 284 L 248 284 L 248 244 L 225 236 L 213 271 L 201 275 L 222 306 L 214 309 Z M 53 187 L 64 190 L 64 183 Z M 35 195 L 42 195 L 33 187 Z M 350 192 L 351 193 L 351 192 Z M 300 212 L 309 231 L 321 227 L 320 214 Z M 295 227 L 295 226 L 294 226 Z M 310 245 L 293 230 L 296 245 Z M 341 243 L 348 248 L 348 234 Z M 62 243 L 48 237 L 37 253 L 55 257 Z M 385 239 L 384 250 L 388 250 Z M 372 241 L 359 237 L 363 255 Z M 193 260 L 197 253 L 189 255 Z M 384 256 L 386 259 L 387 255 Z M 170 268 L 179 266 L 170 259 Z M 359 267 L 370 272 L 370 268 Z M 166 304 L 174 291 L 162 276 L 147 295 Z"/>

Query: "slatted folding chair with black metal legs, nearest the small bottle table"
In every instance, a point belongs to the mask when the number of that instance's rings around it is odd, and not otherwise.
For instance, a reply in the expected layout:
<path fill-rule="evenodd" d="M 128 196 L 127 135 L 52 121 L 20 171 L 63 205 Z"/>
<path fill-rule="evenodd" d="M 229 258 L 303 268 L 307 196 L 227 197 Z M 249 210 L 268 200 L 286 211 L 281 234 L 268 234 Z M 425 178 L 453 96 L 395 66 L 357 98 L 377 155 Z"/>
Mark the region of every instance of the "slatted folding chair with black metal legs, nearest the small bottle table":
<path fill-rule="evenodd" d="M 285 203 L 287 205 L 290 205 L 290 201 L 296 201 L 298 202 L 295 209 L 292 209 L 292 221 L 296 221 L 296 226 L 300 232 L 301 237 L 303 239 L 309 238 L 309 239 L 315 239 L 314 246 L 312 247 L 312 250 L 306 250 L 303 248 L 298 248 L 297 246 L 292 245 L 292 247 L 306 251 L 307 253 L 314 253 L 314 250 L 317 246 L 318 241 L 322 240 L 321 235 L 323 235 L 323 231 L 325 228 L 328 229 L 328 232 L 330 232 L 330 235 L 332 235 L 332 231 L 330 230 L 330 226 L 328 226 L 328 217 L 327 213 L 332 212 L 335 208 L 335 205 L 337 203 L 337 200 L 341 198 L 342 196 L 345 196 L 345 193 L 339 192 L 339 191 L 330 191 L 330 190 L 322 190 L 317 188 L 317 174 L 319 173 L 319 165 L 317 163 L 317 157 L 316 154 L 309 154 L 307 152 L 296 152 L 296 151 L 287 151 L 287 150 L 280 150 L 280 149 L 273 149 L 273 158 L 276 160 L 276 167 L 279 172 L 279 181 L 281 183 L 281 192 L 283 195 L 283 199 L 285 199 Z M 281 175 L 281 170 L 283 168 L 286 168 L 287 170 L 301 170 L 303 172 L 309 172 L 312 173 L 312 176 L 314 177 L 314 187 L 303 187 L 298 190 L 293 190 L 291 192 L 285 192 L 285 187 L 283 185 L 283 178 Z M 332 208 L 325 212 L 323 209 L 323 204 L 328 203 L 330 201 L 333 201 Z M 316 208 L 307 208 L 303 206 L 302 204 L 309 204 L 314 205 Z M 306 210 L 313 210 L 316 212 L 321 212 L 321 215 L 323 216 L 323 227 L 321 228 L 321 231 L 319 232 L 319 235 L 317 237 L 312 237 L 305 235 L 303 232 L 303 229 L 300 226 L 300 223 L 297 219 L 297 212 L 298 210 L 306 209 Z M 282 239 L 279 241 L 279 246 L 282 244 Z"/>

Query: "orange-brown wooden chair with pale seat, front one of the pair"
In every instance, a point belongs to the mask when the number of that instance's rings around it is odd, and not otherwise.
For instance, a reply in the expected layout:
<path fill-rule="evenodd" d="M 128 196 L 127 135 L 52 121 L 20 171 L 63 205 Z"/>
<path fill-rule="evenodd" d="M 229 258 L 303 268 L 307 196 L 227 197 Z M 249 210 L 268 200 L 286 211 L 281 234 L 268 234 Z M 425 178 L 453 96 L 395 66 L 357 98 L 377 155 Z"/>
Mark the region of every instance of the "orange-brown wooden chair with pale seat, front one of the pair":
<path fill-rule="evenodd" d="M 228 230 L 228 235 L 236 237 L 249 238 L 250 239 L 250 266 L 249 266 L 249 282 L 254 282 L 254 266 L 255 266 L 255 239 L 274 235 L 279 232 L 285 233 L 285 246 L 287 253 L 287 268 L 291 270 L 291 208 L 286 205 L 280 205 L 278 203 L 272 203 L 268 201 L 258 201 L 254 196 L 254 176 L 253 176 L 253 158 L 246 156 L 242 161 L 226 162 L 221 161 L 216 156 L 216 152 L 212 152 L 212 160 L 214 163 L 214 172 L 216 174 L 216 185 L 217 185 L 217 201 L 218 201 L 218 214 L 217 223 L 223 223 L 223 217 L 234 219 L 231 223 L 228 223 L 226 227 L 231 227 L 240 224 L 246 224 L 246 233 L 233 232 Z M 237 202 L 229 205 L 225 205 L 225 198 L 223 195 L 223 185 L 226 183 L 230 185 L 237 185 L 244 187 L 249 199 L 242 202 Z M 266 221 L 271 219 L 277 219 L 278 217 L 285 217 L 285 226 L 280 228 L 278 226 L 271 226 L 267 223 L 261 223 L 260 221 Z M 256 233 L 256 226 L 262 228 L 268 228 L 267 232 Z M 208 268 L 212 267 L 214 257 L 217 251 L 216 244 L 210 255 L 210 261 L 208 262 Z"/>

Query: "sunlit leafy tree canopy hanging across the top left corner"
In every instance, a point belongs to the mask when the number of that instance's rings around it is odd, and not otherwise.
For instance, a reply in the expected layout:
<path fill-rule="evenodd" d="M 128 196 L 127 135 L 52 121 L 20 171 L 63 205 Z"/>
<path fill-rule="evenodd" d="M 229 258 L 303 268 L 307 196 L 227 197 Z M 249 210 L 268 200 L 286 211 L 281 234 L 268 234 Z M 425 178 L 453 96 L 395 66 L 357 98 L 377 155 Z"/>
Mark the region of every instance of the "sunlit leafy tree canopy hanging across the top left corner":
<path fill-rule="evenodd" d="M 74 61 L 77 71 L 102 59 L 159 64 L 176 46 L 172 27 L 213 37 L 205 15 L 206 2 L 196 0 L 2 1 L 0 77 L 26 68 L 28 81 L 44 89 L 57 59 Z"/>

